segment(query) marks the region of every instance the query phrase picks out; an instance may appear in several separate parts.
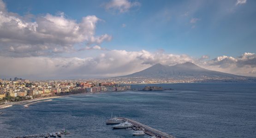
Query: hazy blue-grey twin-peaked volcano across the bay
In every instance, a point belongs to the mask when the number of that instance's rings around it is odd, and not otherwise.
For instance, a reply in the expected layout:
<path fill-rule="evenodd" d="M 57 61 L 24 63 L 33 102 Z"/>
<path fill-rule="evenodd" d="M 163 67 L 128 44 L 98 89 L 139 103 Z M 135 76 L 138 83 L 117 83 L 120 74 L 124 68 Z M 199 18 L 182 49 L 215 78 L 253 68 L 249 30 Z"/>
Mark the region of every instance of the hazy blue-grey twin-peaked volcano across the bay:
<path fill-rule="evenodd" d="M 148 69 L 133 73 L 131 75 L 125 75 L 121 77 L 126 78 L 197 78 L 197 79 L 243 79 L 250 78 L 245 76 L 233 75 L 228 73 L 223 73 L 219 71 L 213 71 L 208 69 L 203 69 L 194 63 L 186 62 L 182 64 L 177 64 L 173 66 L 162 65 L 160 63 L 155 64 Z"/>

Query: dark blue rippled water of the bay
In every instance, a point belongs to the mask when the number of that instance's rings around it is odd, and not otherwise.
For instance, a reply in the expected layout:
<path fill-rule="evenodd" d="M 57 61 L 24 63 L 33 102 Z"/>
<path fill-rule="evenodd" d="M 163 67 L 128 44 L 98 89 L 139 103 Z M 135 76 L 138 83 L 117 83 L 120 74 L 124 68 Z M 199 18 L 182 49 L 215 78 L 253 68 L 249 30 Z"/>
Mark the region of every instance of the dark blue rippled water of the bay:
<path fill-rule="evenodd" d="M 105 124 L 112 111 L 177 138 L 256 138 L 256 83 L 154 86 L 174 90 L 77 95 L 26 109 L 22 105 L 2 109 L 0 138 L 62 128 L 71 132 L 63 138 L 133 138 L 133 130 L 113 130 Z"/>

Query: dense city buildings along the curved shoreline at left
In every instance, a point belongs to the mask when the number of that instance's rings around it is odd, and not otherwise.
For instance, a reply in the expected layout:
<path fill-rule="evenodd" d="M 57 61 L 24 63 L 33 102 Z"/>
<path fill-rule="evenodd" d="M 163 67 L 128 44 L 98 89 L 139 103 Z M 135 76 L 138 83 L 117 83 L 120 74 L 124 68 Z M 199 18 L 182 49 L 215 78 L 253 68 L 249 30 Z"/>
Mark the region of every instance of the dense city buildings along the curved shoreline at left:
<path fill-rule="evenodd" d="M 131 90 L 130 85 L 119 86 L 114 82 L 89 80 L 29 81 L 15 77 L 0 81 L 1 104 L 33 98 L 62 96 L 78 93 L 113 92 Z M 18 98 L 17 98 L 18 97 Z"/>

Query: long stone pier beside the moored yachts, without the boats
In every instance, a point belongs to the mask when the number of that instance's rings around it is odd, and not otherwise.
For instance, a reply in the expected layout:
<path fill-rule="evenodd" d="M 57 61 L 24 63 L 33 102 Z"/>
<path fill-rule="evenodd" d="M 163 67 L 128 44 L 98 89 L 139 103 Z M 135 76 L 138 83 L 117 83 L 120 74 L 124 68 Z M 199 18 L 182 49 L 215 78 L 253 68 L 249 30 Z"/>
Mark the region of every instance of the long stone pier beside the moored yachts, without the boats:
<path fill-rule="evenodd" d="M 134 126 L 132 129 L 134 129 L 134 130 L 143 130 L 146 134 L 148 134 L 150 136 L 155 136 L 155 138 L 175 138 L 174 136 L 172 136 L 170 134 L 167 134 L 165 132 L 161 132 L 161 131 L 156 130 L 152 127 L 149 127 L 147 125 L 143 125 L 142 123 L 131 120 L 129 118 L 119 117 L 119 119 L 122 119 L 123 121 L 128 121 L 129 123 L 131 123 Z"/>

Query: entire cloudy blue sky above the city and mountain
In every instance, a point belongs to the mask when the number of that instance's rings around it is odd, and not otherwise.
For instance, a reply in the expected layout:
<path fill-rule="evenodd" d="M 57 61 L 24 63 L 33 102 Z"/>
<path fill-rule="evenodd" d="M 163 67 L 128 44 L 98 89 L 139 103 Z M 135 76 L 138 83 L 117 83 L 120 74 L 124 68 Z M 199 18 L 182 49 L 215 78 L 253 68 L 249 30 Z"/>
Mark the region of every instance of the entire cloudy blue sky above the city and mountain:
<path fill-rule="evenodd" d="M 102 78 L 185 62 L 256 77 L 255 7 L 255 0 L 0 0 L 0 78 Z"/>

